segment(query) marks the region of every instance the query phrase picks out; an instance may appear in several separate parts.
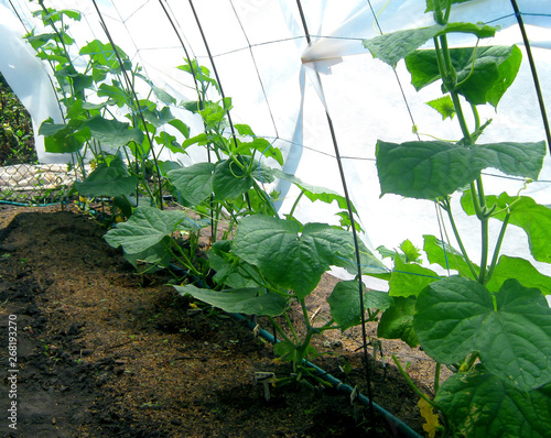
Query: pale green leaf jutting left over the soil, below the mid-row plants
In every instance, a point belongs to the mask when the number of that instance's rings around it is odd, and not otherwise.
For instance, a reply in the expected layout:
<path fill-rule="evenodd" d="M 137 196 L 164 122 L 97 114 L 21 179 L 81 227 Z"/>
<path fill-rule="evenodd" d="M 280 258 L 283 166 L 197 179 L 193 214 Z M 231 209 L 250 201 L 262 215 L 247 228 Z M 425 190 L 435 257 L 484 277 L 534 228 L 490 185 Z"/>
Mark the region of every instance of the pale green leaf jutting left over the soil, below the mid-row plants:
<path fill-rule="evenodd" d="M 204 223 L 194 222 L 183 211 L 138 207 L 126 222 L 107 231 L 105 240 L 127 254 L 137 254 L 158 244 L 177 230 L 197 231 Z"/>

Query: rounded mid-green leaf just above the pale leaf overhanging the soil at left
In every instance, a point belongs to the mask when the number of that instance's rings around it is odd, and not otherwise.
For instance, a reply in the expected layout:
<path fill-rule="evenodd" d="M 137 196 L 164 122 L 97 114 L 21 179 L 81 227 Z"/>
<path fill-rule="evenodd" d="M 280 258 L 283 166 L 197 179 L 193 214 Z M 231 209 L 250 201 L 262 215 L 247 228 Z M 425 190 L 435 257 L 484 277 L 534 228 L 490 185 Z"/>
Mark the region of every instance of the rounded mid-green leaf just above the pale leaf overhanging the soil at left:
<path fill-rule="evenodd" d="M 170 171 L 166 176 L 190 205 L 196 206 L 213 193 L 213 163 L 196 163 L 190 167 Z"/>

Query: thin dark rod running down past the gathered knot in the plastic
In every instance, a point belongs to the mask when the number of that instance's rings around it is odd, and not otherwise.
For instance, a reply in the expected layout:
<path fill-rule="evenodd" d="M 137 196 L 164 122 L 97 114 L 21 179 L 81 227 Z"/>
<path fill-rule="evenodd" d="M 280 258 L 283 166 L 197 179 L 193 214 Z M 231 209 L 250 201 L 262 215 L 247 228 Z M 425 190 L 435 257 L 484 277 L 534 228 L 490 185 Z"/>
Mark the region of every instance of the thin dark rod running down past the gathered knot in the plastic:
<path fill-rule="evenodd" d="M 306 24 L 306 18 L 304 17 L 304 11 L 302 9 L 302 3 L 301 0 L 296 0 L 296 6 L 299 8 L 299 13 L 301 15 L 301 21 L 302 21 L 302 26 L 304 29 L 304 34 L 306 36 L 306 41 L 309 45 L 312 43 L 312 40 L 310 37 L 310 31 L 307 29 Z M 321 84 L 321 78 L 320 74 L 316 72 L 317 78 Z M 321 88 L 322 89 L 322 88 Z M 323 92 L 323 89 L 322 89 Z M 346 184 L 346 176 L 343 167 L 343 161 L 341 160 L 341 152 L 338 150 L 338 143 L 337 143 L 337 138 L 335 133 L 335 128 L 333 127 L 333 120 L 331 119 L 328 109 L 325 108 L 325 116 L 327 118 L 327 124 L 329 127 L 331 131 L 331 139 L 333 141 L 333 147 L 335 149 L 335 158 L 337 161 L 338 165 L 338 172 L 341 174 L 341 182 L 343 183 L 343 190 L 345 194 L 346 198 L 346 208 L 348 210 L 348 216 L 350 217 L 350 228 L 352 228 L 352 233 L 354 238 L 354 249 L 356 253 L 356 267 L 357 267 L 357 275 L 358 275 L 358 292 L 359 292 L 359 308 L 361 309 L 360 315 L 361 315 L 361 342 L 363 342 L 363 353 L 364 353 L 364 365 L 365 365 L 365 373 L 366 373 L 366 381 L 367 381 L 367 394 L 369 398 L 369 414 L 371 417 L 371 420 L 375 418 L 375 409 L 374 409 L 374 402 L 372 402 L 372 394 L 371 394 L 371 371 L 370 371 L 370 362 L 367 353 L 367 332 L 366 332 L 366 316 L 365 316 L 365 303 L 364 303 L 364 284 L 361 282 L 361 263 L 360 263 L 360 255 L 359 255 L 359 243 L 358 243 L 358 233 L 356 231 L 356 220 L 354 219 L 354 211 L 352 208 L 352 201 L 350 201 L 350 196 L 348 194 L 348 186 Z"/>

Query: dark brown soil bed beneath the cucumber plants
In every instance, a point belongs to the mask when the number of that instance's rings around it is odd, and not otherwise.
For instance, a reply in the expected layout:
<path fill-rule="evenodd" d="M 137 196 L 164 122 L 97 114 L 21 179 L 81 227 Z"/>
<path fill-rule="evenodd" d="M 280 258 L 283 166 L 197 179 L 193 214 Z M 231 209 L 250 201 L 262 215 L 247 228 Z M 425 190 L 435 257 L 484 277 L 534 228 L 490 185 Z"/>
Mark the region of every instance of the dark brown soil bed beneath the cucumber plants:
<path fill-rule="evenodd" d="M 225 315 L 190 313 L 169 277 L 136 275 L 104 232 L 89 216 L 60 206 L 0 206 L 0 436 L 368 436 L 365 423 L 356 426 L 368 410 L 343 393 L 284 386 L 271 388 L 267 402 L 255 372 L 289 373 L 274 363 L 271 344 Z M 320 317 L 334 283 L 325 277 L 310 303 Z M 17 398 L 9 398 L 10 320 L 18 336 Z M 374 327 L 368 331 L 375 335 Z M 338 364 L 346 358 L 353 366 L 346 382 L 365 393 L 358 331 L 336 335 L 316 341 L 331 355 L 314 363 L 344 379 Z M 400 342 L 382 347 L 387 366 L 383 372 L 379 358 L 374 401 L 422 434 L 418 397 L 390 355 L 410 362 L 425 392 L 432 363 Z M 6 416 L 12 401 L 17 430 Z M 401 435 L 379 428 L 370 436 Z"/>

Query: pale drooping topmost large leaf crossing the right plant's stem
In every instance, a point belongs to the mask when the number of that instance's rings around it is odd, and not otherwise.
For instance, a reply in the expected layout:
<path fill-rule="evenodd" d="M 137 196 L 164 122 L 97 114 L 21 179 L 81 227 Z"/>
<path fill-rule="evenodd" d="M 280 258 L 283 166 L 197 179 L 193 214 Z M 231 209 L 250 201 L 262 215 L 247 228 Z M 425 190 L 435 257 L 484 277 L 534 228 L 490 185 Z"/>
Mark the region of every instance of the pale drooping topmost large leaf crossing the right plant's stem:
<path fill-rule="evenodd" d="M 484 39 L 494 36 L 496 28 L 474 23 L 434 24 L 430 28 L 398 31 L 371 40 L 364 40 L 364 46 L 371 52 L 374 57 L 396 67 L 400 59 L 414 52 L 429 40 L 452 32 L 472 33 Z"/>

